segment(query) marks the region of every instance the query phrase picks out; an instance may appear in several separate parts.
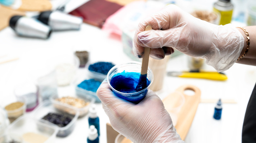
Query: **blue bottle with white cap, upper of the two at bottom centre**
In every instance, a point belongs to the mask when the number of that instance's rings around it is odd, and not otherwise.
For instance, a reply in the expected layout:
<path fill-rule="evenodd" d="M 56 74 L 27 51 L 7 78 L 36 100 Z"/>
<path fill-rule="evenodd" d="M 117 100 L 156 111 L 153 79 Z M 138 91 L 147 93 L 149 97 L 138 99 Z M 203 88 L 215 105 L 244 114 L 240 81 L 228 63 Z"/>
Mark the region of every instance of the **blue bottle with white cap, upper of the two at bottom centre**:
<path fill-rule="evenodd" d="M 92 104 L 92 106 L 89 108 L 89 126 L 94 125 L 95 128 L 97 129 L 98 136 L 99 134 L 99 117 L 97 116 L 97 111 L 96 111 L 96 105 Z"/>

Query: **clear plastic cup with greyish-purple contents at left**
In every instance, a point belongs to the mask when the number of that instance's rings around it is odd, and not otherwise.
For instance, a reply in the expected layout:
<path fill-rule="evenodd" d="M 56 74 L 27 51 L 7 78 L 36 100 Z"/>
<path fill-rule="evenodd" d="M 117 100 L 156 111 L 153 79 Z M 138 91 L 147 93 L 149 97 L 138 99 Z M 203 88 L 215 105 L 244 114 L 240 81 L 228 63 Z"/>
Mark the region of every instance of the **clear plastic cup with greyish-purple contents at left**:
<path fill-rule="evenodd" d="M 39 89 L 33 83 L 22 83 L 15 87 L 14 94 L 18 100 L 25 99 L 26 111 L 30 112 L 39 104 Z"/>

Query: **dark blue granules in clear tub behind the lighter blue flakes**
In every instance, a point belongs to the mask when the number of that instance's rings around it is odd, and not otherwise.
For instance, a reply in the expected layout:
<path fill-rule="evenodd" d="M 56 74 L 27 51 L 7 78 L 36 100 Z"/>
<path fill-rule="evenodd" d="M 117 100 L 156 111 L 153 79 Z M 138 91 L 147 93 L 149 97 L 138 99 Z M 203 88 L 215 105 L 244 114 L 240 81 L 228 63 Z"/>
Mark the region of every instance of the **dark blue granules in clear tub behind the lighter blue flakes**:
<path fill-rule="evenodd" d="M 110 62 L 97 62 L 89 66 L 89 71 L 95 71 L 102 74 L 108 74 L 108 71 L 115 65 Z"/>

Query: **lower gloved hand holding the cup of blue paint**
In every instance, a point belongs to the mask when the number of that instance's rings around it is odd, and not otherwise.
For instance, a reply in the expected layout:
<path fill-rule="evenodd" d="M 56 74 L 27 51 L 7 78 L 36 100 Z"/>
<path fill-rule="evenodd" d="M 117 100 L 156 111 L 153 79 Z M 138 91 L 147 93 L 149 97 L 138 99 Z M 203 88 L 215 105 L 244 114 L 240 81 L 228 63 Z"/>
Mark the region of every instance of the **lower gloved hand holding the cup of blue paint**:
<path fill-rule="evenodd" d="M 103 81 L 97 96 L 112 127 L 134 143 L 184 143 L 162 101 L 151 90 L 140 103 L 134 104 L 114 95 Z"/>

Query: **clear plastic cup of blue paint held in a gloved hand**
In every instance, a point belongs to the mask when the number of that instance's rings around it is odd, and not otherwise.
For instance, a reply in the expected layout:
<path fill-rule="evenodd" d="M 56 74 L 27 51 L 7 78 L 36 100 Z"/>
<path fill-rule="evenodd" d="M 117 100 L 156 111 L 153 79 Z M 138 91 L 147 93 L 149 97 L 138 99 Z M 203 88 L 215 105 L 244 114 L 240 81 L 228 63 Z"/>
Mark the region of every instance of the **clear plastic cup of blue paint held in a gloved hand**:
<path fill-rule="evenodd" d="M 138 92 L 136 92 L 135 90 L 134 90 L 135 92 L 131 92 L 131 93 L 120 92 L 113 87 L 114 86 L 113 84 L 111 85 L 111 80 L 113 79 L 113 77 L 117 75 L 125 74 L 127 78 L 134 79 L 134 82 L 133 83 L 131 82 L 131 84 L 136 87 L 139 82 L 140 70 L 141 70 L 140 62 L 126 62 L 120 65 L 114 66 L 107 74 L 107 82 L 110 88 L 112 89 L 112 91 L 114 92 L 114 94 L 130 102 L 139 103 L 146 96 L 148 92 L 148 88 L 151 86 L 153 82 L 154 76 L 150 68 L 148 68 L 148 71 L 147 71 L 147 79 L 149 84 L 145 89 Z M 129 81 L 125 81 L 125 82 L 129 82 Z M 118 83 L 118 84 L 119 86 L 125 86 L 124 85 L 125 83 Z"/>

